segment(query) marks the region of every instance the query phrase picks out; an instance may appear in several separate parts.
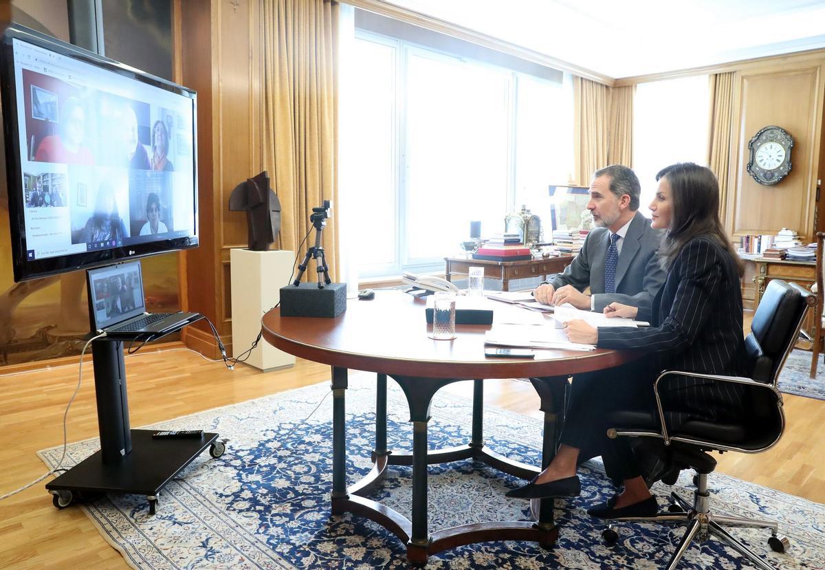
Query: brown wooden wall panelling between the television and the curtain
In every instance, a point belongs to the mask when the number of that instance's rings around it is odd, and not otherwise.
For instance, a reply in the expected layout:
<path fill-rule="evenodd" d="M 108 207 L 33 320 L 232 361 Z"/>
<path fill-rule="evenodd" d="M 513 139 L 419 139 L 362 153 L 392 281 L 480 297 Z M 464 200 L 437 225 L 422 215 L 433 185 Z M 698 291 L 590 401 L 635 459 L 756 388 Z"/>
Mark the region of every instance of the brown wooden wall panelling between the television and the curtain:
<path fill-rule="evenodd" d="M 198 92 L 200 247 L 186 253 L 188 309 L 209 317 L 230 348 L 229 251 L 246 247 L 247 226 L 229 195 L 263 169 L 261 0 L 180 7 L 182 81 Z M 217 356 L 208 325 L 196 327 L 187 344 Z"/>

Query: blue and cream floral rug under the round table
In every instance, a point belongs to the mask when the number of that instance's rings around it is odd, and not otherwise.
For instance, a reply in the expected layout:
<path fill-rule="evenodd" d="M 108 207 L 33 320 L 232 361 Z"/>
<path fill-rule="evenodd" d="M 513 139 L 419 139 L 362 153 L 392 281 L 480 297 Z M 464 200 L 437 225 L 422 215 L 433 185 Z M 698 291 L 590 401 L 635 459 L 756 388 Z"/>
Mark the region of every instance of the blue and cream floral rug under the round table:
<path fill-rule="evenodd" d="M 347 390 L 347 473 L 351 482 L 370 469 L 375 402 L 374 380 L 351 379 Z M 389 445 L 410 448 L 412 431 L 403 394 L 390 382 Z M 405 550 L 394 535 L 358 516 L 329 516 L 332 487 L 332 398 L 305 417 L 329 393 L 328 384 L 201 412 L 151 426 L 218 431 L 229 437 L 219 459 L 204 454 L 181 478 L 169 483 L 148 516 L 145 497 L 101 497 L 82 508 L 106 540 L 125 560 L 141 570 L 177 568 L 407 568 Z M 432 407 L 431 447 L 469 440 L 469 400 L 449 394 Z M 504 455 L 534 463 L 539 458 L 540 422 L 488 407 L 484 417 L 488 445 Z M 71 445 L 72 462 L 97 450 L 97 440 Z M 60 449 L 40 452 L 53 466 Z M 497 471 L 456 462 L 430 468 L 430 527 L 471 521 L 525 520 L 528 503 L 507 499 L 504 492 L 520 482 Z M 408 514 L 411 471 L 394 467 L 375 492 L 394 509 Z M 765 554 L 775 568 L 823 568 L 825 506 L 736 478 L 713 473 L 709 478 L 714 506 L 735 516 L 766 516 L 780 522 L 788 536 L 788 554 L 770 552 L 767 531 L 733 530 L 733 534 Z M 601 541 L 603 527 L 585 513 L 612 489 L 601 464 L 582 472 L 582 497 L 556 504 L 561 525 L 559 543 L 544 551 L 528 542 L 473 544 L 430 559 L 427 568 L 662 568 L 681 536 L 681 527 L 623 525 L 614 547 Z M 672 488 L 658 483 L 660 506 Z M 674 487 L 690 499 L 689 473 Z M 69 508 L 78 508 L 71 506 Z M 728 547 L 715 541 L 692 546 L 680 570 L 750 568 Z"/>

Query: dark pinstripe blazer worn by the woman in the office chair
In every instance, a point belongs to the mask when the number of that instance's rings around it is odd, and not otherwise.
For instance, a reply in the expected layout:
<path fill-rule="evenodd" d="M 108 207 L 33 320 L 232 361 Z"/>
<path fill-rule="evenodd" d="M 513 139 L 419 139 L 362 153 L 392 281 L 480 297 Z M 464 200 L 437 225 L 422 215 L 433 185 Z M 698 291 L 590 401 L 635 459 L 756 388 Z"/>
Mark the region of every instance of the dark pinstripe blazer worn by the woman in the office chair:
<path fill-rule="evenodd" d="M 707 236 L 682 247 L 652 314 L 651 327 L 601 327 L 597 346 L 651 353 L 658 370 L 741 375 L 745 367 L 742 290 L 735 261 Z M 655 378 L 655 376 L 653 377 Z M 651 379 L 653 381 L 653 379 Z M 742 413 L 742 386 L 685 376 L 662 380 L 662 406 L 675 425 L 691 417 L 724 419 Z M 668 422 L 670 423 L 670 421 Z"/>

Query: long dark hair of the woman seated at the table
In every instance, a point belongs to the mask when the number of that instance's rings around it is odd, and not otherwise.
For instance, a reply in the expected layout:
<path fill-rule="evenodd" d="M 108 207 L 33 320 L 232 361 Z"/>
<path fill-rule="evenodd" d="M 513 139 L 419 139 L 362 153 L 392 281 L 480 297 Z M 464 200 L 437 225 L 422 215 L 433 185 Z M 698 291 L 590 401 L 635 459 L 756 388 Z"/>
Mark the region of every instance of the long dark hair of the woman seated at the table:
<path fill-rule="evenodd" d="M 656 180 L 667 178 L 671 187 L 672 218 L 667 228 L 659 255 L 667 269 L 681 252 L 681 248 L 697 236 L 712 239 L 727 251 L 736 263 L 739 276 L 744 264 L 733 250 L 719 219 L 719 181 L 707 167 L 694 163 L 676 163 L 664 167 Z"/>

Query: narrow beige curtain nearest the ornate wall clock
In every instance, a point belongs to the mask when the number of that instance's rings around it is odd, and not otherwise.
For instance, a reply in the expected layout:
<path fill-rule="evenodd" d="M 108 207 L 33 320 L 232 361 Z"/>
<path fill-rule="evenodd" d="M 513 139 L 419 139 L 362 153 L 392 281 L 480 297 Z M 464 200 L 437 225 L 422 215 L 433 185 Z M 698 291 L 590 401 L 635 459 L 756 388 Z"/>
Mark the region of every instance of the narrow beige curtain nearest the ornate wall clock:
<path fill-rule="evenodd" d="M 724 222 L 728 204 L 728 170 L 730 139 L 733 131 L 733 75 L 736 72 L 710 75 L 710 135 L 708 165 L 719 179 L 719 215 Z"/>

